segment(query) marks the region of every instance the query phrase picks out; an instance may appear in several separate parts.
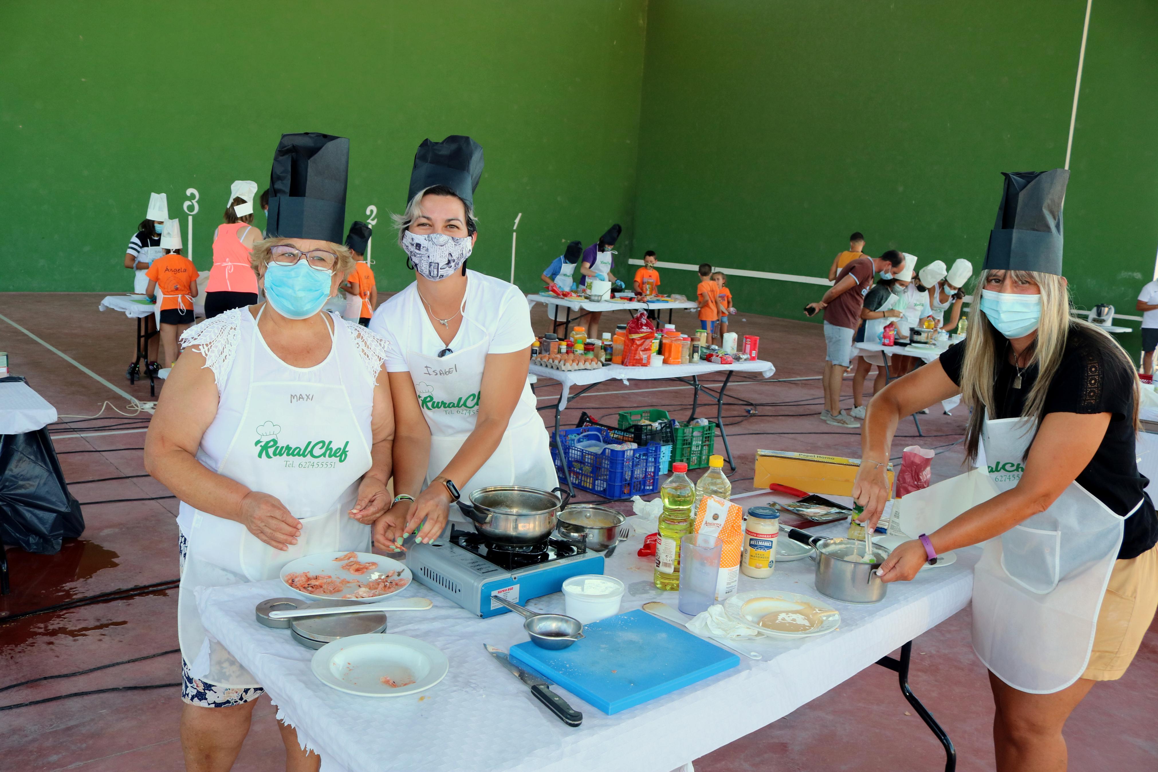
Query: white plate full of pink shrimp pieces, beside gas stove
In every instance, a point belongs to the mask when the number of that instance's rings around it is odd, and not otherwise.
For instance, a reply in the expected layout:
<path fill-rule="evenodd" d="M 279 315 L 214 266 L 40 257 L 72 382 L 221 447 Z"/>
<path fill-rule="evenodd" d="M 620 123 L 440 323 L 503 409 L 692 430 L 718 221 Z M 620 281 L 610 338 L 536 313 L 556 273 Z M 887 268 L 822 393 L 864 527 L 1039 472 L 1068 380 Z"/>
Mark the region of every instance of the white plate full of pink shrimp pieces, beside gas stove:
<path fill-rule="evenodd" d="M 369 552 L 318 552 L 281 568 L 281 581 L 302 597 L 360 603 L 394 595 L 412 580 L 405 564 Z"/>

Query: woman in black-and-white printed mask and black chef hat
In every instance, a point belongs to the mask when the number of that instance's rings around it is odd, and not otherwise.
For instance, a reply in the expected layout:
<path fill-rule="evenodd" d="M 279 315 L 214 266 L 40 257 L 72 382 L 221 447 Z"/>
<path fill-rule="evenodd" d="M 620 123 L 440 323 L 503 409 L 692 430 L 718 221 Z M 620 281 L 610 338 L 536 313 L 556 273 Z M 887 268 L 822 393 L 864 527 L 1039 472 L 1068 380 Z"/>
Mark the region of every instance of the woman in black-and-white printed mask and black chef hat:
<path fill-rule="evenodd" d="M 478 233 L 474 193 L 483 148 L 469 137 L 425 140 L 406 209 L 394 215 L 415 282 L 382 303 L 369 329 L 390 343 L 397 420 L 394 502 L 374 543 L 437 538 L 460 497 L 489 485 L 557 487 L 547 427 L 527 384 L 530 311 L 514 285 L 467 270 Z M 453 512 L 452 512 L 453 509 Z"/>

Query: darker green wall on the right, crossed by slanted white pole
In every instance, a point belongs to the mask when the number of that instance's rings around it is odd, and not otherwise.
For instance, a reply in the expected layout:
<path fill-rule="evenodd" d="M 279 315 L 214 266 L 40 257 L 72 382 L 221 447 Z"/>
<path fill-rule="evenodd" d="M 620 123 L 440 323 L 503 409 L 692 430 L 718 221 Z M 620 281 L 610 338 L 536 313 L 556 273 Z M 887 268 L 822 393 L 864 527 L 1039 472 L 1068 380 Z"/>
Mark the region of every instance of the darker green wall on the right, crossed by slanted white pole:
<path fill-rule="evenodd" d="M 636 243 L 823 277 L 862 230 L 873 255 L 980 267 L 999 172 L 1064 163 L 1084 13 L 1084 0 L 652 3 Z M 1153 2 L 1094 0 L 1065 208 L 1065 272 L 1087 308 L 1136 314 L 1155 267 L 1156 29 Z M 822 292 L 730 286 L 739 308 L 793 318 Z"/>

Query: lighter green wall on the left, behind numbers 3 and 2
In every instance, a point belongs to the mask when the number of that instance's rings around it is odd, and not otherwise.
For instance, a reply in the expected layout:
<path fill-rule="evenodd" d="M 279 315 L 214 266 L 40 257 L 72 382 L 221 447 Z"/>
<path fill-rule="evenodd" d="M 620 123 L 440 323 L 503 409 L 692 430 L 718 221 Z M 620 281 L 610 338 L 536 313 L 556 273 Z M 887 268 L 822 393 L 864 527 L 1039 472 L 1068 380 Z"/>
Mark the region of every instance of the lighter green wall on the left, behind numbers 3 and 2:
<path fill-rule="evenodd" d="M 530 286 L 563 245 L 630 233 L 645 0 L 0 5 L 0 291 L 129 291 L 149 191 L 211 264 L 234 179 L 269 182 L 283 132 L 351 140 L 347 221 L 404 205 L 418 144 L 486 152 L 471 265 Z M 258 214 L 255 225 L 263 225 Z M 188 244 L 188 234 L 185 234 Z M 379 286 L 409 282 L 375 244 Z M 412 277 L 412 274 L 409 274 Z"/>

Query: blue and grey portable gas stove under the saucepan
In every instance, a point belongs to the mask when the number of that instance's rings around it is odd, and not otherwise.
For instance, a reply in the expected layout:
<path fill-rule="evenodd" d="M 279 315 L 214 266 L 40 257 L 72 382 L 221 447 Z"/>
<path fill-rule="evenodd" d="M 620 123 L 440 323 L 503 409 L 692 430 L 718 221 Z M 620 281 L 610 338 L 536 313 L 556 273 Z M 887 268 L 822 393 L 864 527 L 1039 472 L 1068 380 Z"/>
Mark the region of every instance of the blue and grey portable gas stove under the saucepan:
<path fill-rule="evenodd" d="M 481 617 L 493 617 L 507 609 L 492 595 L 526 604 L 558 593 L 572 576 L 602 574 L 603 556 L 562 539 L 508 546 L 452 528 L 446 538 L 412 546 L 406 565 L 419 583 Z"/>

